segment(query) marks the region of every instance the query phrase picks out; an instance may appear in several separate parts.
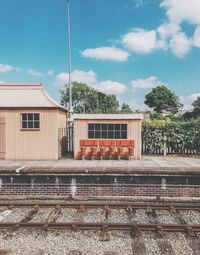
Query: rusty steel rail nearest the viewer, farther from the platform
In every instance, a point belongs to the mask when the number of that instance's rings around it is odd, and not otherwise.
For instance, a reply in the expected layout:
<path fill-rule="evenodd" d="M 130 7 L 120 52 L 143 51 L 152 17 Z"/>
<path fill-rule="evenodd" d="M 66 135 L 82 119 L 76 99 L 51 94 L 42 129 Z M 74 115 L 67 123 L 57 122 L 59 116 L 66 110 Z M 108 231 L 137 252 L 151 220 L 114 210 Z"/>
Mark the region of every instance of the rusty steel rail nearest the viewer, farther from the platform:
<path fill-rule="evenodd" d="M 200 225 L 178 224 L 115 224 L 115 223 L 64 223 L 64 222 L 1 222 L 0 229 L 43 228 L 68 230 L 120 230 L 120 231 L 155 231 L 155 232 L 186 232 L 189 234 L 200 232 Z"/>

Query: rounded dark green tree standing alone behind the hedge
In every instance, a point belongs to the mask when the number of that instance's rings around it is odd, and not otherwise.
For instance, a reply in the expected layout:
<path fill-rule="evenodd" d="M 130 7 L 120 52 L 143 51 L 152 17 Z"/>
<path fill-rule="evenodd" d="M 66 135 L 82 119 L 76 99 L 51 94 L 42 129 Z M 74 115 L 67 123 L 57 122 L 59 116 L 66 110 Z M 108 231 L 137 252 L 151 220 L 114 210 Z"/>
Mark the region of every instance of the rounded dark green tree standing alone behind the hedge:
<path fill-rule="evenodd" d="M 164 85 L 153 88 L 145 96 L 145 104 L 157 113 L 177 113 L 182 107 L 178 96 Z"/>

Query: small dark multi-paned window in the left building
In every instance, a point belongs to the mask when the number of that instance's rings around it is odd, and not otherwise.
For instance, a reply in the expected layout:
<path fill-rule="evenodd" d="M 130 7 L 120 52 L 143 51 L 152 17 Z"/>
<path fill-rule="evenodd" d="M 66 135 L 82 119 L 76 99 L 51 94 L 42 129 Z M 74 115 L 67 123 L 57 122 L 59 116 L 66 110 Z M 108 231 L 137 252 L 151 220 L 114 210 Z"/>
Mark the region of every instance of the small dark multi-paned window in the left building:
<path fill-rule="evenodd" d="M 22 113 L 22 129 L 39 129 L 40 128 L 40 114 L 39 113 Z"/>

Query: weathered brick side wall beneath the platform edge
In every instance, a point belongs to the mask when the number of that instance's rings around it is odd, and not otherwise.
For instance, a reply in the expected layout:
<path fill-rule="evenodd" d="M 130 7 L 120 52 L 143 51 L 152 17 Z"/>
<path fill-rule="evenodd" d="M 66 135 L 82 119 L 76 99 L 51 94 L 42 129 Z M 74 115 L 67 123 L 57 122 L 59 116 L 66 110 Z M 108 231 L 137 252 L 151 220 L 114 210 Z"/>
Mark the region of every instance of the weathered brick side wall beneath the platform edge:
<path fill-rule="evenodd" d="M 199 197 L 199 175 L 0 174 L 0 195 Z"/>

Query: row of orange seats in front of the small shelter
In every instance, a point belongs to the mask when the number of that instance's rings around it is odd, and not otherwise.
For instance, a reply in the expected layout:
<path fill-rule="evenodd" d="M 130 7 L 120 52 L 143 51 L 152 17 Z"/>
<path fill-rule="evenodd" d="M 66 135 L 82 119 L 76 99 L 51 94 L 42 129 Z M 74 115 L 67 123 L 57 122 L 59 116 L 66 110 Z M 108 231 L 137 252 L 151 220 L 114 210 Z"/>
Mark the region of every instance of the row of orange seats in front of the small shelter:
<path fill-rule="evenodd" d="M 134 155 L 133 140 L 81 140 L 80 157 L 82 158 L 126 158 Z"/>

